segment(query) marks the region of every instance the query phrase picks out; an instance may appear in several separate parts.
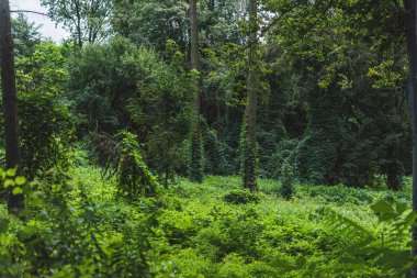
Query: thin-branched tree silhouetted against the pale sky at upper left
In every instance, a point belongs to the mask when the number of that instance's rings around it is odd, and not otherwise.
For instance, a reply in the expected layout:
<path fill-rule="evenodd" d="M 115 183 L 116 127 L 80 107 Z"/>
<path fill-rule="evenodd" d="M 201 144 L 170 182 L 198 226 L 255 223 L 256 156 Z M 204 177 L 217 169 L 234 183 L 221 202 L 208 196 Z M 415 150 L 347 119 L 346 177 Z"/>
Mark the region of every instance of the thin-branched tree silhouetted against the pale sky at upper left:
<path fill-rule="evenodd" d="M 42 4 L 56 23 L 64 24 L 79 47 L 110 34 L 111 0 L 42 0 Z"/>

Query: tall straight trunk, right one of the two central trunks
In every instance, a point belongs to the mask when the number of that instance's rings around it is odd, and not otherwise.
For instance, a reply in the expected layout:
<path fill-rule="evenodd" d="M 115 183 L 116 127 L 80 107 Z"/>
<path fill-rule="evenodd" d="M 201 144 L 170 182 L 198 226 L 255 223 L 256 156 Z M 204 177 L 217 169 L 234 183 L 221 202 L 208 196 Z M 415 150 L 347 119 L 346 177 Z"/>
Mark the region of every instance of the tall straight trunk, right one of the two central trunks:
<path fill-rule="evenodd" d="M 258 33 L 258 4 L 257 0 L 249 0 L 249 26 L 250 35 L 248 38 L 248 104 L 246 108 L 246 135 L 247 149 L 244 162 L 244 188 L 256 191 L 257 186 L 257 91 L 258 74 L 256 67 L 257 55 L 257 33 Z"/>

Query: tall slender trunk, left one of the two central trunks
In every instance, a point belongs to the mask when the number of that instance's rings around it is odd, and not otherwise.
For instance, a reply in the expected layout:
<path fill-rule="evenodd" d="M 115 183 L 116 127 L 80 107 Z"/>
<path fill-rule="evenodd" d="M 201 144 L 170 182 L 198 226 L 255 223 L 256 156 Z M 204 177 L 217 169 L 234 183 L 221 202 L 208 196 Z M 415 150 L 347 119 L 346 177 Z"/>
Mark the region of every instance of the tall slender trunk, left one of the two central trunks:
<path fill-rule="evenodd" d="M 190 0 L 190 33 L 191 33 L 191 69 L 199 70 L 199 22 L 196 1 Z M 201 93 L 200 78 L 194 79 L 195 87 L 195 127 L 191 143 L 190 179 L 203 181 L 203 145 L 201 134 Z"/>

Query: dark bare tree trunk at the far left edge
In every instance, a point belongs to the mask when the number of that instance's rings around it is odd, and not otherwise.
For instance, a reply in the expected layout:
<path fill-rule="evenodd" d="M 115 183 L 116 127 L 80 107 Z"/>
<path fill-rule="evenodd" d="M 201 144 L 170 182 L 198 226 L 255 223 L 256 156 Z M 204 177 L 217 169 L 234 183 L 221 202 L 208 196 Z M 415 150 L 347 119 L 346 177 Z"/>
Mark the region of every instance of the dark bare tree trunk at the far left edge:
<path fill-rule="evenodd" d="M 18 98 L 15 86 L 15 71 L 13 58 L 13 37 L 10 25 L 9 0 L 0 0 L 0 67 L 1 85 L 3 93 L 4 113 L 4 143 L 5 143 L 5 167 L 8 169 L 18 168 L 20 173 L 21 153 L 19 146 L 18 132 Z M 8 190 L 9 213 L 16 214 L 24 208 L 24 196 L 12 194 L 12 189 Z"/>

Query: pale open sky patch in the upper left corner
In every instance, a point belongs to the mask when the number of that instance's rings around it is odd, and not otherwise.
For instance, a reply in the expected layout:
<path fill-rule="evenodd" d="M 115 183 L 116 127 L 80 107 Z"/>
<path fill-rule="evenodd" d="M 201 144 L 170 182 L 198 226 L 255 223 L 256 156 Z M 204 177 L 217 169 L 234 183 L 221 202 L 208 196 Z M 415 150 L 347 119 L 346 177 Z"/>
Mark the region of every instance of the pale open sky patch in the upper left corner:
<path fill-rule="evenodd" d="M 47 10 L 41 5 L 41 0 L 10 0 L 10 10 L 30 10 L 35 12 L 47 13 Z M 31 22 L 35 22 L 37 25 L 42 25 L 41 32 L 43 36 L 50 37 L 55 42 L 60 42 L 63 38 L 68 37 L 68 33 L 59 25 L 55 26 L 55 23 L 45 15 L 25 13 Z"/>

